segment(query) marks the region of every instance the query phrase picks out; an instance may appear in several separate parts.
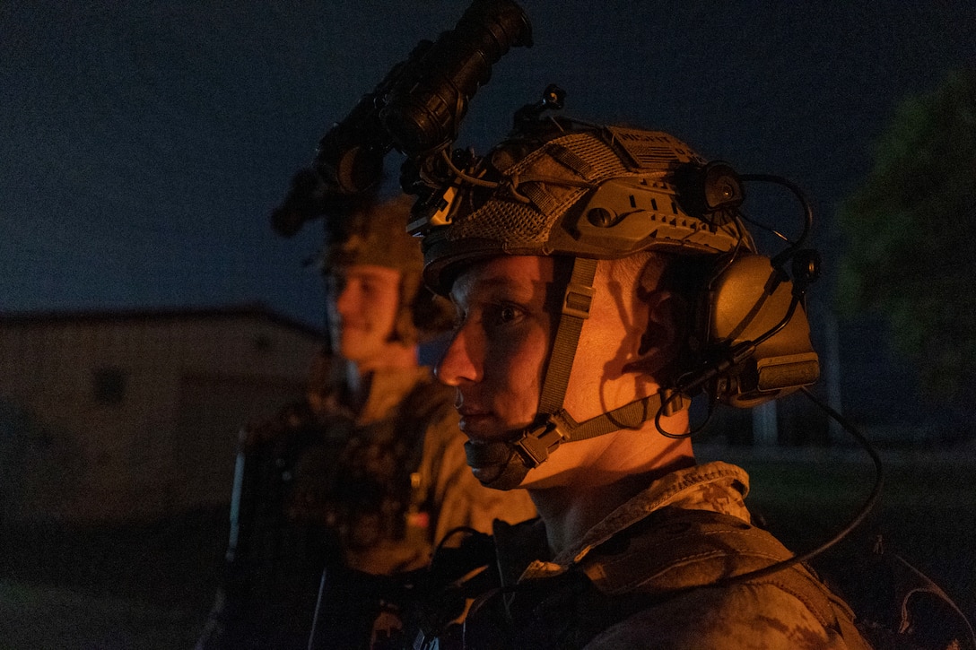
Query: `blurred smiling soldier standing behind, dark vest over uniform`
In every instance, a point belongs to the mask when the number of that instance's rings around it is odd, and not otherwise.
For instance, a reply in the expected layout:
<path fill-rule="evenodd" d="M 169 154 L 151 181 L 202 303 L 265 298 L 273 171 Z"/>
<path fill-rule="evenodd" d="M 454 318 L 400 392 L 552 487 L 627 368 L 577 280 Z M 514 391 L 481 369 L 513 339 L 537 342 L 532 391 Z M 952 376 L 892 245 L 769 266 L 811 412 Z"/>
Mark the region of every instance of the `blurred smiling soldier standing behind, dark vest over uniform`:
<path fill-rule="evenodd" d="M 471 475 L 452 391 L 419 364 L 450 321 L 422 286 L 408 210 L 401 197 L 328 216 L 332 351 L 304 402 L 243 432 L 227 575 L 198 648 L 306 648 L 313 619 L 314 647 L 369 647 L 398 625 L 387 577 L 425 566 L 456 529 L 535 515 L 526 494 Z"/>

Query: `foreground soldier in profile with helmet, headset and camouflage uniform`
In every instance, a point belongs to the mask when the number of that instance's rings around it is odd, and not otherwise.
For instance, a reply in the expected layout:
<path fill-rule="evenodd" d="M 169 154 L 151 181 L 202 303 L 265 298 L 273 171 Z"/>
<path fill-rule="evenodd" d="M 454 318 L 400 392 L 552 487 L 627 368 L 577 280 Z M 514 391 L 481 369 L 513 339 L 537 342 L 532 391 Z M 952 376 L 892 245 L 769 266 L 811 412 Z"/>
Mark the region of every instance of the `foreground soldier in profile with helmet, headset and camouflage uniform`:
<path fill-rule="evenodd" d="M 742 178 L 669 134 L 551 124 L 415 215 L 457 312 L 435 372 L 468 464 L 540 518 L 496 525 L 493 583 L 458 589 L 463 627 L 419 615 L 414 647 L 866 648 L 752 524 L 746 472 L 699 464 L 688 437 L 696 393 L 748 407 L 816 381 L 809 278 L 782 269 L 799 251 L 759 255 Z"/>

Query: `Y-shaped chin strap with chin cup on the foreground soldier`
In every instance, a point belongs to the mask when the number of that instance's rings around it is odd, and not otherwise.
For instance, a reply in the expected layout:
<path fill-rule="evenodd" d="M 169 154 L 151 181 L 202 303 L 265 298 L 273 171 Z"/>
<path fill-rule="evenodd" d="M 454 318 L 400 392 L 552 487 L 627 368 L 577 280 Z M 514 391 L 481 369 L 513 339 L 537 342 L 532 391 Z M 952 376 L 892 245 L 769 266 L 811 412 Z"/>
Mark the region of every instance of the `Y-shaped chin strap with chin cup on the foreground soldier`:
<path fill-rule="evenodd" d="M 487 487 L 510 490 L 517 487 L 529 469 L 539 467 L 563 442 L 586 440 L 622 428 L 636 428 L 654 419 L 665 403 L 665 415 L 684 408 L 681 396 L 661 393 L 649 395 L 619 408 L 577 423 L 562 408 L 580 341 L 583 321 L 590 317 L 596 260 L 575 258 L 573 271 L 563 293 L 562 311 L 549 354 L 549 367 L 539 398 L 539 415 L 531 427 L 514 433 L 508 440 L 465 443 L 468 465 L 479 469 L 479 480 Z M 495 469 L 495 471 L 490 471 Z"/>

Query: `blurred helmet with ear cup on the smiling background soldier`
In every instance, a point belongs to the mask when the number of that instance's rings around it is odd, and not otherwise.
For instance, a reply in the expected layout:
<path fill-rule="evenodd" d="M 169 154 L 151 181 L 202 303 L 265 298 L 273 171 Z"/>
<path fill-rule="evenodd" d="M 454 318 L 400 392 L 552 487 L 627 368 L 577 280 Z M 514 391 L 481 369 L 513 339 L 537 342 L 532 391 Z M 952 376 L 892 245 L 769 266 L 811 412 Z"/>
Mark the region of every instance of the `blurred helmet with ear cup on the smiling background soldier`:
<path fill-rule="evenodd" d="M 400 271 L 400 306 L 393 337 L 406 345 L 425 343 L 450 329 L 451 305 L 435 296 L 422 282 L 424 257 L 420 241 L 403 227 L 411 200 L 363 198 L 346 203 L 325 218 L 321 269 L 370 264 Z"/>

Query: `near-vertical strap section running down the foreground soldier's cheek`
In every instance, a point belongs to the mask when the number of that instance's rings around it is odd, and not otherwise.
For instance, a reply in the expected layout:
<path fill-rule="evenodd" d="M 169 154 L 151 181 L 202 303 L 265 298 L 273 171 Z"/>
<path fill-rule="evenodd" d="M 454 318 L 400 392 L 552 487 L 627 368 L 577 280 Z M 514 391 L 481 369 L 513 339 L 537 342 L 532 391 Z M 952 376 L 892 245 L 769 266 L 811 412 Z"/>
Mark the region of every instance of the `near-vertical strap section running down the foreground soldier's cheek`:
<path fill-rule="evenodd" d="M 549 354 L 549 367 L 543 381 L 542 395 L 539 398 L 539 413 L 549 416 L 562 409 L 562 400 L 569 384 L 569 373 L 576 358 L 576 346 L 580 342 L 583 321 L 590 318 L 590 304 L 593 300 L 593 276 L 596 275 L 596 260 L 573 259 L 573 272 L 562 296 L 562 312 L 556 326 L 552 351 Z"/>

